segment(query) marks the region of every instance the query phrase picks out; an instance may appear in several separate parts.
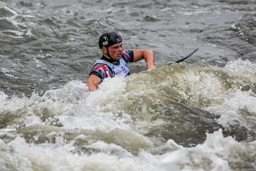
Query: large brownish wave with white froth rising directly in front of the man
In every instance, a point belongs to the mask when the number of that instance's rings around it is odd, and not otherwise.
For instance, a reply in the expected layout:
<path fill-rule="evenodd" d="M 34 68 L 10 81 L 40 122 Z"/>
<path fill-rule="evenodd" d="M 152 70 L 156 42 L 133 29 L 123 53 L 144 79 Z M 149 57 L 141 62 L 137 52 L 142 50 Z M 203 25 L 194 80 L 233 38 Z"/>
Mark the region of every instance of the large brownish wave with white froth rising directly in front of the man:
<path fill-rule="evenodd" d="M 255 68 L 241 58 L 224 68 L 175 63 L 125 79 L 106 79 L 91 93 L 81 81 L 30 98 L 8 99 L 1 92 L 0 125 L 2 129 L 34 124 L 105 131 L 129 128 L 155 144 L 174 139 L 184 146 L 203 143 L 204 133 L 222 128 L 225 136 L 242 141 L 255 136 L 251 121 L 256 117 L 251 105 L 256 98 Z"/>

